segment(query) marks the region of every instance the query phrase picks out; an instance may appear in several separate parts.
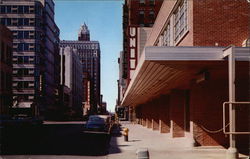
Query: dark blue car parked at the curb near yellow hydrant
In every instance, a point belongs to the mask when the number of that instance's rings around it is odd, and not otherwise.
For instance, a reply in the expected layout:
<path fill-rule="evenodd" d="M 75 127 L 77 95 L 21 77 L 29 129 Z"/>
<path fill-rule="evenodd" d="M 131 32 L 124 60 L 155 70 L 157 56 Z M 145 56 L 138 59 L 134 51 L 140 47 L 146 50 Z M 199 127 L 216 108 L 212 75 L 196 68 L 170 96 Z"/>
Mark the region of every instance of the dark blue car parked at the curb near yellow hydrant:
<path fill-rule="evenodd" d="M 108 132 L 110 127 L 110 118 L 106 115 L 90 115 L 85 125 L 87 131 Z"/>

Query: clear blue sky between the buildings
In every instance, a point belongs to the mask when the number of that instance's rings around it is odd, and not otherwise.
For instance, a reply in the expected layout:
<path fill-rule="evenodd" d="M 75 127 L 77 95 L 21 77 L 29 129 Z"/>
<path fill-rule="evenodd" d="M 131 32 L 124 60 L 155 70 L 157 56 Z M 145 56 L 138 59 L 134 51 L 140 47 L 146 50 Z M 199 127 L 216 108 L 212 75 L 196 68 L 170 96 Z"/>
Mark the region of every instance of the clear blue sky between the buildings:
<path fill-rule="evenodd" d="M 122 50 L 121 0 L 55 0 L 55 21 L 60 40 L 77 40 L 84 22 L 90 40 L 101 48 L 101 94 L 107 110 L 114 112 L 117 99 L 118 57 Z"/>

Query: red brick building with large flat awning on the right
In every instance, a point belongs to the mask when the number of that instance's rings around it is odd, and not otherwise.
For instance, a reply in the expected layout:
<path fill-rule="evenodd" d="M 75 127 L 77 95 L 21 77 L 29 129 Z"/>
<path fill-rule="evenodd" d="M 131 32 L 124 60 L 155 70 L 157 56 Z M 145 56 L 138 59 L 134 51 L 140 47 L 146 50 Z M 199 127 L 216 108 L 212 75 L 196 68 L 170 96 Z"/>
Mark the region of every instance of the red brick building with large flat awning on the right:
<path fill-rule="evenodd" d="M 250 122 L 249 9 L 247 1 L 164 1 L 121 99 L 131 120 L 186 146 L 249 154 L 249 137 L 238 135 Z"/>

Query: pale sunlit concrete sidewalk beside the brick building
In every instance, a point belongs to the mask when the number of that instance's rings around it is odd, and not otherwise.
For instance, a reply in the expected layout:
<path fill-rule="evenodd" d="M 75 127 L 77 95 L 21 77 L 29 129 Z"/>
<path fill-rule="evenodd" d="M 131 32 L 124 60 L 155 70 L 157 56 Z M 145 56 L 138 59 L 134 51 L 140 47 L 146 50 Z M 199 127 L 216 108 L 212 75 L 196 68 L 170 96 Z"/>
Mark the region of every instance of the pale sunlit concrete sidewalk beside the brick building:
<path fill-rule="evenodd" d="M 226 149 L 221 147 L 192 148 L 184 138 L 171 139 L 167 134 L 147 129 L 138 124 L 122 122 L 122 127 L 129 128 L 129 141 L 123 136 L 112 137 L 108 159 L 136 159 L 139 148 L 147 148 L 150 159 L 225 159 Z M 247 159 L 241 156 L 241 159 Z"/>

